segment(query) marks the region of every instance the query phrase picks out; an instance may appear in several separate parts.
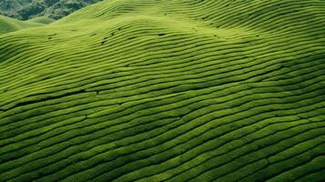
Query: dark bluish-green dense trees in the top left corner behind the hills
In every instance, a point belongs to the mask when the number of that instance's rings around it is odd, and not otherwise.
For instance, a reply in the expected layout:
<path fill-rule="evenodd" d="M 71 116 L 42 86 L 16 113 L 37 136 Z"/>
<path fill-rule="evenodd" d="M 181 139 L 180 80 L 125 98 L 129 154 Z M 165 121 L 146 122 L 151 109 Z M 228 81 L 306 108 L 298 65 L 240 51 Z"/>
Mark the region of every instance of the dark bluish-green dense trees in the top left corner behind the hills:
<path fill-rule="evenodd" d="M 1 0 L 0 15 L 21 20 L 38 16 L 59 19 L 101 0 Z"/>

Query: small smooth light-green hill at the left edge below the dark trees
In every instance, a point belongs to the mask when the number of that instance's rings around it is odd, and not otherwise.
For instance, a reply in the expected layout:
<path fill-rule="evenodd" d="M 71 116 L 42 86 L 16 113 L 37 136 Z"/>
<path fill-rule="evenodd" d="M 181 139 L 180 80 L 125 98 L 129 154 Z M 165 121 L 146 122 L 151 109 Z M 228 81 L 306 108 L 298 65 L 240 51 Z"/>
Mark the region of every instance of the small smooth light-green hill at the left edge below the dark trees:
<path fill-rule="evenodd" d="M 40 22 L 24 22 L 15 20 L 14 18 L 5 17 L 4 15 L 0 15 L 0 35 L 15 32 L 17 30 L 41 26 Z"/>

